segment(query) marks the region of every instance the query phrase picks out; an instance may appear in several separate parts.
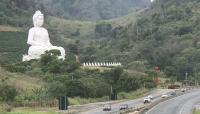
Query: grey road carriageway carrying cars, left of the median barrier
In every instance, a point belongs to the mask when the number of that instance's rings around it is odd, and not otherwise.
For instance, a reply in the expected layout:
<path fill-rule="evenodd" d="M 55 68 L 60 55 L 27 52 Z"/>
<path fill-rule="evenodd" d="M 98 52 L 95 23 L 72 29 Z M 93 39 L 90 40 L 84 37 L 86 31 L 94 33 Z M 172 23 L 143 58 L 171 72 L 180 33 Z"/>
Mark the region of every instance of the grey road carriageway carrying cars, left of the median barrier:
<path fill-rule="evenodd" d="M 153 101 L 161 99 L 160 96 L 163 93 L 169 93 L 170 91 L 171 90 L 165 90 L 165 91 L 161 91 L 159 93 L 152 94 L 154 96 L 154 100 Z M 119 111 L 119 107 L 120 107 L 121 104 L 128 104 L 129 108 L 130 107 L 140 106 L 140 105 L 143 105 L 143 98 L 112 104 L 111 105 L 111 109 L 112 109 L 111 111 L 103 111 L 103 106 L 100 106 L 100 107 L 97 107 L 97 108 L 90 109 L 88 111 L 82 112 L 80 114 L 118 114 L 117 111 Z"/>

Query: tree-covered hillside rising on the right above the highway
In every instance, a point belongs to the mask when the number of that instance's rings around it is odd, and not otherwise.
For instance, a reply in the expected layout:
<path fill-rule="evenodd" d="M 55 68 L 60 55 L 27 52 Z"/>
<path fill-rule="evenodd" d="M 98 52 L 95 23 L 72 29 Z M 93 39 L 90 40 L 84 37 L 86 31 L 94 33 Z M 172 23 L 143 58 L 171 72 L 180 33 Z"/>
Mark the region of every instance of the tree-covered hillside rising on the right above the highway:
<path fill-rule="evenodd" d="M 191 80 L 200 79 L 199 6 L 199 0 L 156 0 L 116 36 L 127 39 L 123 48 L 132 61 L 159 66 L 175 79 L 184 80 L 186 72 Z"/>

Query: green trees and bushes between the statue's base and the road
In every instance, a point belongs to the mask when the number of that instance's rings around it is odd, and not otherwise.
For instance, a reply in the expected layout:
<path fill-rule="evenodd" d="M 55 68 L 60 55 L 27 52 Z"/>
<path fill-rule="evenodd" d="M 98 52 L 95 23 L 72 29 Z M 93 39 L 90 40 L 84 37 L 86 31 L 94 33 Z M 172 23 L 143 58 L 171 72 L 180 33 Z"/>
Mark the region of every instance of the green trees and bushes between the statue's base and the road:
<path fill-rule="evenodd" d="M 13 93 L 14 101 L 35 101 L 55 99 L 59 96 L 99 98 L 109 96 L 113 92 L 130 92 L 139 88 L 153 88 L 155 83 L 152 76 L 135 76 L 119 68 L 98 69 L 80 68 L 73 54 L 66 60 L 57 59 L 57 50 L 46 52 L 40 60 L 32 60 L 17 64 L 3 64 L 2 67 L 10 72 L 18 72 L 33 77 L 40 77 L 46 85 L 36 89 L 36 93 L 24 96 L 23 93 Z M 52 55 L 53 53 L 53 55 Z M 14 89 L 13 92 L 16 90 Z M 1 94 L 0 94 L 1 95 Z M 45 98 L 44 98 L 45 96 Z M 5 101 L 4 99 L 2 99 Z"/>

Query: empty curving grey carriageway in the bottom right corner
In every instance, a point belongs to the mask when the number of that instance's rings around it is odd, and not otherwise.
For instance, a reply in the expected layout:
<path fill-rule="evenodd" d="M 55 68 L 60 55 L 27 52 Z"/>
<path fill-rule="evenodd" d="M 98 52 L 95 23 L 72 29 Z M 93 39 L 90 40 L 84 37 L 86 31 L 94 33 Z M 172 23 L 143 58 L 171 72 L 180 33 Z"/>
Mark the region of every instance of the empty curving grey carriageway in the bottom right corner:
<path fill-rule="evenodd" d="M 200 101 L 200 90 L 159 103 L 145 114 L 191 114 L 194 105 Z"/>

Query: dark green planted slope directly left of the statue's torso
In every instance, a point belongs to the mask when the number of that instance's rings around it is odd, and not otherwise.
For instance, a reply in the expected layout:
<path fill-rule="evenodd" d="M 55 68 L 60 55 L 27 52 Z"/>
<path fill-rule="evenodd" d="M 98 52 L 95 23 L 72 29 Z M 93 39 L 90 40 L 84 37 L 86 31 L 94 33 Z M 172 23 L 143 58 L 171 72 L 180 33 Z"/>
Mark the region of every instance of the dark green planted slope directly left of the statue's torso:
<path fill-rule="evenodd" d="M 0 62 L 19 62 L 22 55 L 27 53 L 25 32 L 0 32 Z"/>

